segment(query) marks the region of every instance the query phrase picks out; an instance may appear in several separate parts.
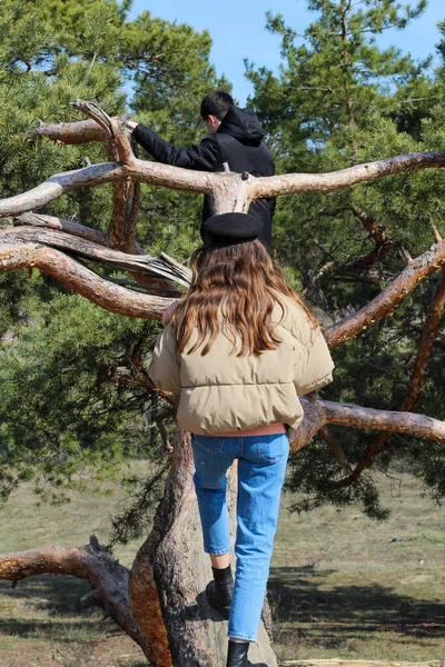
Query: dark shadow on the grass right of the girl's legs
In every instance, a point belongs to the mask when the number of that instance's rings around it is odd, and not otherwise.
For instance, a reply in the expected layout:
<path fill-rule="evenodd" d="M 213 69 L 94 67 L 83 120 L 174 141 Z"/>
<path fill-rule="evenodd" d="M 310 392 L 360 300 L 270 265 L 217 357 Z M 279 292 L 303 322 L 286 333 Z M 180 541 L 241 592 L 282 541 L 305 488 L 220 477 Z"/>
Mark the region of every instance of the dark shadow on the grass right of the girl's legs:
<path fill-rule="evenodd" d="M 269 601 L 274 623 L 294 626 L 308 639 L 322 631 L 324 645 L 345 630 L 349 636 L 396 633 L 406 638 L 445 637 L 445 601 L 395 593 L 390 586 L 326 586 L 335 570 L 307 567 L 270 569 Z M 325 587 L 327 589 L 325 589 Z"/>

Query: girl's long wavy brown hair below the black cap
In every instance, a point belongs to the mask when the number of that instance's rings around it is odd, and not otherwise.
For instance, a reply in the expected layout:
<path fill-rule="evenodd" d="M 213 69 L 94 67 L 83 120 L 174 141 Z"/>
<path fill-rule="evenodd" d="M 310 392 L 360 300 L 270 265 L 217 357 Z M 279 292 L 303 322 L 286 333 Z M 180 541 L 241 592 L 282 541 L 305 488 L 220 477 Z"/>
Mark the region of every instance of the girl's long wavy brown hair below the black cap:
<path fill-rule="evenodd" d="M 196 340 L 187 354 L 204 345 L 201 355 L 207 355 L 219 334 L 221 318 L 237 357 L 276 349 L 280 339 L 274 334 L 271 312 L 278 302 L 284 315 L 284 296 L 301 308 L 314 327 L 318 326 L 258 240 L 227 247 L 202 246 L 194 252 L 190 265 L 190 287 L 171 316 L 179 352 L 196 328 Z"/>

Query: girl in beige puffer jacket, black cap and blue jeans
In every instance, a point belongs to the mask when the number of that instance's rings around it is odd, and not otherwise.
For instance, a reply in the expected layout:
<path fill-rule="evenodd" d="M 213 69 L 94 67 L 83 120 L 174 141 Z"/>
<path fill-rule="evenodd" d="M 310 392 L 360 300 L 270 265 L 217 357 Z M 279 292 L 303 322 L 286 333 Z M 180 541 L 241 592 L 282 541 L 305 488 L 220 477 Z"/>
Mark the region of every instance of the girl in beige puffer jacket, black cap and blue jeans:
<path fill-rule="evenodd" d="M 158 337 L 149 374 L 179 395 L 192 434 L 194 476 L 214 580 L 208 601 L 229 618 L 227 667 L 246 667 L 267 584 L 298 396 L 332 381 L 323 334 L 256 240 L 254 216 L 225 213 L 202 227 L 192 280 Z M 235 586 L 226 472 L 238 459 Z"/>

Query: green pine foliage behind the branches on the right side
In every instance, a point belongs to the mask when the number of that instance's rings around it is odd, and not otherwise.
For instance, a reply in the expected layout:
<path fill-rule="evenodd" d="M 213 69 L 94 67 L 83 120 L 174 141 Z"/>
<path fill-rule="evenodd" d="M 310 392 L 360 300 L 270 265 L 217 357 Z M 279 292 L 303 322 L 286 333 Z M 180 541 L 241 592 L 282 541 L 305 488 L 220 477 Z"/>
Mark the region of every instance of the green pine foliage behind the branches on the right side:
<path fill-rule="evenodd" d="M 431 59 L 415 62 L 395 48 L 380 49 L 376 41 L 385 30 L 405 28 L 426 3 L 309 0 L 307 6 L 316 19 L 303 34 L 281 16 L 268 14 L 268 30 L 281 38 L 277 74 L 247 63 L 255 88 L 251 103 L 270 133 L 278 168 L 313 173 L 388 155 L 442 150 L 441 72 L 428 73 Z M 409 266 L 411 256 L 444 233 L 444 192 L 442 172 L 422 172 L 328 196 L 280 200 L 275 218 L 277 255 L 294 268 L 326 323 L 335 321 L 375 297 Z M 443 418 L 442 339 L 436 336 L 422 371 L 416 361 L 434 290 L 434 281 L 425 282 L 393 317 L 338 350 L 337 381 L 326 396 L 388 409 L 416 404 Z M 333 427 L 293 459 L 288 486 L 296 494 L 295 509 L 354 501 L 369 516 L 386 515 L 370 476 L 346 475 L 338 480 L 337 464 L 326 449 L 326 441 L 334 446 L 337 439 L 345 460 L 363 460 L 370 448 L 374 468 L 386 470 L 392 460 L 408 457 L 431 494 L 436 498 L 443 494 L 441 447 Z M 370 458 L 366 460 L 363 472 L 370 465 Z"/>

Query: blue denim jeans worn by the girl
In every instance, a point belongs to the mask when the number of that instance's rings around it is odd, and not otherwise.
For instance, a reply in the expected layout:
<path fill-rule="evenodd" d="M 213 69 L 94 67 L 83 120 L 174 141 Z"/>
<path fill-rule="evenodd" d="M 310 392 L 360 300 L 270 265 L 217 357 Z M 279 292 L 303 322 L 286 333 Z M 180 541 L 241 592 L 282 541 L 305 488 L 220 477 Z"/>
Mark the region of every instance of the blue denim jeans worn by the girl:
<path fill-rule="evenodd" d="M 191 436 L 207 554 L 230 551 L 227 469 L 238 459 L 236 575 L 228 636 L 255 641 L 269 576 L 289 441 L 286 435 Z"/>

